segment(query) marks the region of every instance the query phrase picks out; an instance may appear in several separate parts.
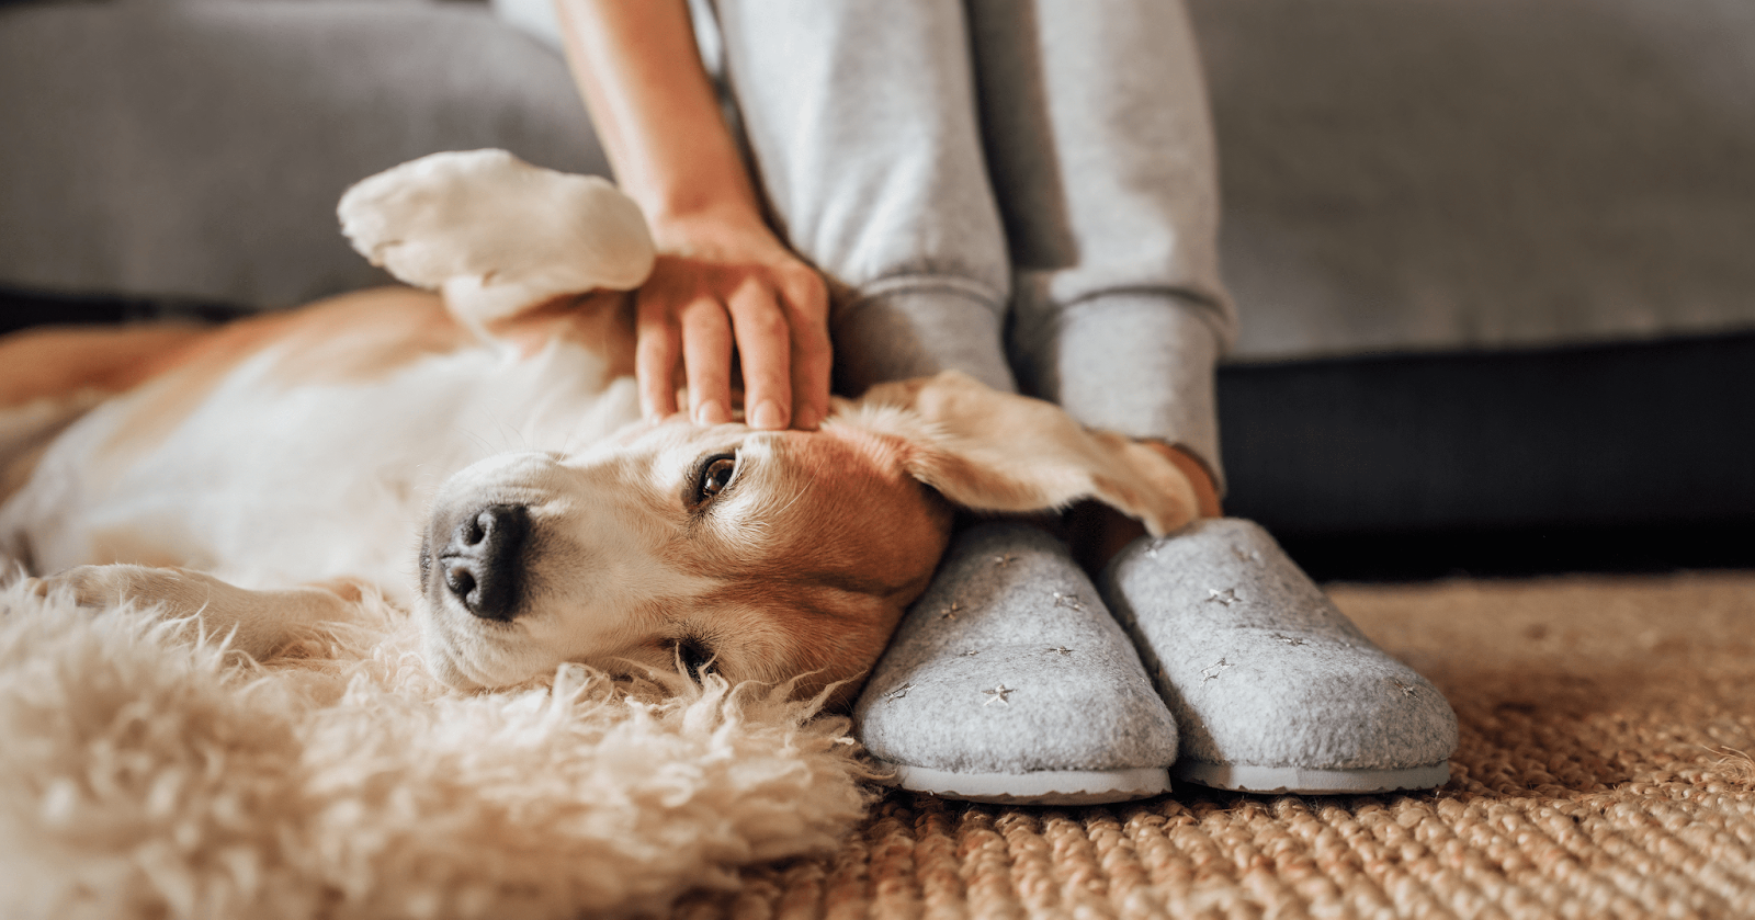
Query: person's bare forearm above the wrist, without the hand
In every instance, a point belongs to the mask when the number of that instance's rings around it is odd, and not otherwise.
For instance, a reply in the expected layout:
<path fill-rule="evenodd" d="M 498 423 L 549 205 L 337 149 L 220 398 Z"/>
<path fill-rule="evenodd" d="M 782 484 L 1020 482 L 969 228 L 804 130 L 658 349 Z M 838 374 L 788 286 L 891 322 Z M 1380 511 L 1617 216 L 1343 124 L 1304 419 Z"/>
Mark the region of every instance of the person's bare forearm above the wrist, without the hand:
<path fill-rule="evenodd" d="M 574 79 L 623 191 L 667 225 L 760 221 L 683 0 L 556 0 Z"/>

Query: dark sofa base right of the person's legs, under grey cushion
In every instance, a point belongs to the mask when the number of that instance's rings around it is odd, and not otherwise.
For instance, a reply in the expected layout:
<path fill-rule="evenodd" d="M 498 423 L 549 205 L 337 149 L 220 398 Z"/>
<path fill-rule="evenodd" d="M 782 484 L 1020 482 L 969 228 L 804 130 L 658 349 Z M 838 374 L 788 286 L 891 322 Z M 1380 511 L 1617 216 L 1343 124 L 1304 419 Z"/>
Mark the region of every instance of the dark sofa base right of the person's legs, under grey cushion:
<path fill-rule="evenodd" d="M 1755 334 L 1220 370 L 1230 513 L 1285 535 L 1755 523 Z"/>

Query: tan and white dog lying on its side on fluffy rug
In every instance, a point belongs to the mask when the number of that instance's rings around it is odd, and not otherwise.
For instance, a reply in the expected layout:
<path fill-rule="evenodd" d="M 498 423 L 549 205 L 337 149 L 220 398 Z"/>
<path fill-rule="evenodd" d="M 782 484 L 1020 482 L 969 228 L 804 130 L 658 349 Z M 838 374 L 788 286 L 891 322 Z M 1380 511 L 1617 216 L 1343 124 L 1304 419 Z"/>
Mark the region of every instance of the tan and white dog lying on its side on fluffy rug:
<path fill-rule="evenodd" d="M 256 658 L 381 595 L 460 690 L 583 662 L 844 695 L 956 509 L 1193 514 L 1151 449 L 955 372 L 814 432 L 642 421 L 627 291 L 655 256 L 602 179 L 446 153 L 340 214 L 414 288 L 0 341 L 0 557 L 37 590 Z"/>

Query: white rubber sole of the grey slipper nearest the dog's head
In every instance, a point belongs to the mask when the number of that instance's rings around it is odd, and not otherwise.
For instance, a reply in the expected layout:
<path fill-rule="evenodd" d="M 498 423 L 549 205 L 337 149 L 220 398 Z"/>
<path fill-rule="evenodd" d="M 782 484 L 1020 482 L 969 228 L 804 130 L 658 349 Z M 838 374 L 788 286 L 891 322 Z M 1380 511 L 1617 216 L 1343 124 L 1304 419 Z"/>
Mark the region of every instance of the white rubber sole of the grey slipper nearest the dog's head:
<path fill-rule="evenodd" d="M 992 804 L 1083 806 L 1150 799 L 1171 790 L 1164 767 L 1118 771 L 951 773 L 883 764 L 895 773 L 886 785 L 944 799 Z"/>

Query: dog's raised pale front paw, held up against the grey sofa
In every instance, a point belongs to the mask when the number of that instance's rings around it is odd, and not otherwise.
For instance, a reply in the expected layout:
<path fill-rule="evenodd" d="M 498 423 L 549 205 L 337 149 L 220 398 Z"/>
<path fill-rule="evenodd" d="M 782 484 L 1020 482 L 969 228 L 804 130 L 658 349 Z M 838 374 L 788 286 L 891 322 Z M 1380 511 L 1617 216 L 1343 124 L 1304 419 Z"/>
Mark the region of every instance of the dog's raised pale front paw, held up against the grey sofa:
<path fill-rule="evenodd" d="M 444 293 L 477 328 L 556 297 L 637 288 L 655 258 L 646 218 L 616 186 L 500 149 L 388 169 L 349 188 L 337 212 L 372 265 Z"/>

